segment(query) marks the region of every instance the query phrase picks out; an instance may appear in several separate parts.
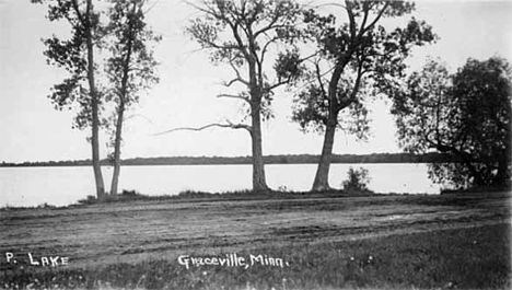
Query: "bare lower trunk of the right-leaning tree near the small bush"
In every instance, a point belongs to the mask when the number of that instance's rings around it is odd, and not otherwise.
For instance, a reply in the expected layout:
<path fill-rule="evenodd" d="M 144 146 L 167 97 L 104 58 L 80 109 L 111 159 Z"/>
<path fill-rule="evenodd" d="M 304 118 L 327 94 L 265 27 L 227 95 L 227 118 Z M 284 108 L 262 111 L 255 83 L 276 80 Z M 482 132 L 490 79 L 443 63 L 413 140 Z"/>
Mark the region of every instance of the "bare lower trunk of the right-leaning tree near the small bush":
<path fill-rule="evenodd" d="M 315 181 L 313 182 L 313 192 L 330 189 L 329 186 L 329 170 L 330 170 L 330 156 L 333 154 L 333 146 L 336 132 L 338 115 L 330 115 L 327 120 L 324 136 L 324 146 L 322 147 L 322 155 L 318 161 L 318 167 L 316 169 Z"/>

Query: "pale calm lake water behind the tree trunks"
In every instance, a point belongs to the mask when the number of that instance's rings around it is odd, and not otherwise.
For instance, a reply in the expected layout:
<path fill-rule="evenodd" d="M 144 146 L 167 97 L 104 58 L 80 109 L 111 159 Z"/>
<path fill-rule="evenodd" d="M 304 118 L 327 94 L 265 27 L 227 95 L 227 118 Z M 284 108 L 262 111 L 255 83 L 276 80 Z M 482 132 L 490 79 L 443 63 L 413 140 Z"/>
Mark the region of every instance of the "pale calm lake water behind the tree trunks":
<path fill-rule="evenodd" d="M 369 188 L 377 193 L 438 194 L 426 164 L 333 164 L 329 183 L 340 187 L 350 166 L 369 170 Z M 309 190 L 316 164 L 266 165 L 267 183 L 274 188 Z M 112 169 L 103 167 L 106 188 Z M 226 192 L 252 186 L 251 165 L 162 165 L 121 167 L 119 190 L 146 195 L 177 195 L 186 189 Z M 92 167 L 0 167 L 0 206 L 56 206 L 95 195 Z"/>

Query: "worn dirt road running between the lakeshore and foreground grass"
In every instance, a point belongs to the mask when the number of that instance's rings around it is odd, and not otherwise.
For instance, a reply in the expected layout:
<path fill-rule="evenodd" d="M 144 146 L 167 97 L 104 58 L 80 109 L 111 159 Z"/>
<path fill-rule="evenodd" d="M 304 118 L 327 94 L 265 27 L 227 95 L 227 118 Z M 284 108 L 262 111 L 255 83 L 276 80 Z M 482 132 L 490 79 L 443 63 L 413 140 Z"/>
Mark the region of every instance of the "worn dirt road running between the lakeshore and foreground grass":
<path fill-rule="evenodd" d="M 0 211 L 4 253 L 71 267 L 510 222 L 510 195 L 132 201 Z"/>

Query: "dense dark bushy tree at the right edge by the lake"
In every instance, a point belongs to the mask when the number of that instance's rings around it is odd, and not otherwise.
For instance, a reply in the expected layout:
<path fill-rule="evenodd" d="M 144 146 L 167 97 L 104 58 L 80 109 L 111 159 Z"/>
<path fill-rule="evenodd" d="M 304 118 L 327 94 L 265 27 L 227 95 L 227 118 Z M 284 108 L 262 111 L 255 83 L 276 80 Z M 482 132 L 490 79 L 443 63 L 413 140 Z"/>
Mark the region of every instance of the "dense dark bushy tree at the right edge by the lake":
<path fill-rule="evenodd" d="M 505 185 L 511 176 L 511 68 L 507 60 L 468 59 L 454 74 L 430 60 L 396 94 L 399 144 L 437 150 L 458 162 L 429 165 L 430 177 L 455 186 Z"/>

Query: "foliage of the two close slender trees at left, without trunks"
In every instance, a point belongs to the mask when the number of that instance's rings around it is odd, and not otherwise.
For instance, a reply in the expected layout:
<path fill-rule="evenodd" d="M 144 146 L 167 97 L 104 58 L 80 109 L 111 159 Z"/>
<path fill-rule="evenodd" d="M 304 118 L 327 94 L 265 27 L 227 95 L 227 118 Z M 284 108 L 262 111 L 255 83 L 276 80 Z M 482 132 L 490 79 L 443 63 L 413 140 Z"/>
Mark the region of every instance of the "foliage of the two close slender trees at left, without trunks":
<path fill-rule="evenodd" d="M 129 97 L 127 103 L 137 102 L 139 95 L 137 92 L 149 89 L 153 83 L 159 81 L 156 76 L 155 66 L 158 62 L 154 60 L 153 53 L 147 44 L 158 43 L 161 36 L 154 35 L 153 32 L 148 30 L 143 21 L 143 13 L 141 9 L 136 10 L 136 13 L 130 14 L 132 4 L 140 5 L 144 1 L 118 1 L 112 0 L 108 7 L 108 21 L 101 22 L 100 14 L 105 13 L 91 13 L 85 18 L 85 11 L 80 7 L 81 2 L 73 2 L 74 0 L 66 0 L 58 2 L 48 2 L 48 20 L 61 21 L 65 20 L 71 25 L 71 37 L 63 39 L 54 35 L 43 43 L 46 46 L 44 55 L 47 58 L 48 65 L 54 65 L 65 68 L 70 77 L 65 79 L 61 83 L 54 85 L 51 94 L 48 96 L 57 109 L 70 108 L 75 109 L 77 116 L 73 120 L 73 128 L 83 129 L 91 125 L 91 97 L 88 95 L 90 92 L 89 83 L 86 82 L 88 73 L 88 54 L 86 54 L 86 30 L 92 30 L 92 37 L 94 38 L 94 46 L 100 53 L 109 53 L 110 56 L 103 56 L 107 58 L 106 62 L 97 61 L 94 63 L 94 72 L 97 79 L 105 79 L 102 76 L 102 69 L 106 69 L 107 83 L 103 85 L 104 92 L 98 88 L 96 94 L 98 103 L 106 105 L 108 102 L 117 102 L 119 98 L 119 88 L 121 82 L 120 71 L 126 58 L 127 39 L 131 35 L 127 30 L 127 23 L 131 21 L 135 34 L 132 43 L 132 61 L 130 63 L 129 73 Z M 33 1 L 35 3 L 43 3 L 45 1 Z M 133 35 L 135 36 L 135 35 Z M 106 90 L 105 88 L 108 88 Z M 85 93 L 88 92 L 88 93 Z M 104 107 L 101 107 L 105 109 Z"/>

